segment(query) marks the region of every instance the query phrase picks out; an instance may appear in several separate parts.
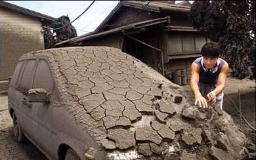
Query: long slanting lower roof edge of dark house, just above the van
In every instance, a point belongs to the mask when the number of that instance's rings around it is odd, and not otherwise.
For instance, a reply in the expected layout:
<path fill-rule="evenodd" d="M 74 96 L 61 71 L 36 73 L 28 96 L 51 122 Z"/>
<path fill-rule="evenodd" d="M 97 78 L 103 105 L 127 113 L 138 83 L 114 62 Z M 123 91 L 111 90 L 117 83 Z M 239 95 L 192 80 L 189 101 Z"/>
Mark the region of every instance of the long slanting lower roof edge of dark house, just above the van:
<path fill-rule="evenodd" d="M 91 34 L 87 34 L 87 35 L 81 35 L 79 37 L 75 37 L 75 38 L 72 38 L 72 39 L 69 39 L 69 40 L 66 40 L 66 41 L 62 41 L 60 43 L 56 43 L 55 46 L 62 45 L 64 43 L 70 43 L 70 44 L 77 43 L 77 42 L 84 41 L 84 40 L 87 40 L 87 39 L 92 39 L 92 38 L 101 37 L 101 36 L 104 36 L 104 35 L 109 35 L 109 34 L 112 34 L 112 33 L 121 32 L 123 30 L 139 29 L 139 28 L 142 28 L 142 27 L 152 26 L 152 25 L 155 25 L 155 24 L 163 23 L 163 22 L 169 22 L 169 20 L 170 20 L 170 17 L 166 16 L 164 18 L 156 18 L 156 19 L 153 19 L 153 20 L 146 20 L 146 21 L 142 21 L 142 22 L 136 22 L 136 23 L 133 23 L 133 24 L 128 24 L 128 25 L 125 25 L 125 26 L 121 26 L 119 28 L 114 28 L 112 30 L 103 31 L 103 32 L 100 32 L 100 33 L 91 33 Z"/>

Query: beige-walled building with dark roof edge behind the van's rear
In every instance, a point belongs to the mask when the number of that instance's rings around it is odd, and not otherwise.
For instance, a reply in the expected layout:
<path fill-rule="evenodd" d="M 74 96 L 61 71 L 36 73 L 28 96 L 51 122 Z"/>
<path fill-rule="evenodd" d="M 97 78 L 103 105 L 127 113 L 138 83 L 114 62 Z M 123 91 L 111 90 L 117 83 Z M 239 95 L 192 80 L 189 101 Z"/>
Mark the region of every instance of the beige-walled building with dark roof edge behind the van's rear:
<path fill-rule="evenodd" d="M 42 26 L 56 18 L 0 1 L 0 92 L 8 90 L 18 58 L 32 50 L 45 49 Z"/>

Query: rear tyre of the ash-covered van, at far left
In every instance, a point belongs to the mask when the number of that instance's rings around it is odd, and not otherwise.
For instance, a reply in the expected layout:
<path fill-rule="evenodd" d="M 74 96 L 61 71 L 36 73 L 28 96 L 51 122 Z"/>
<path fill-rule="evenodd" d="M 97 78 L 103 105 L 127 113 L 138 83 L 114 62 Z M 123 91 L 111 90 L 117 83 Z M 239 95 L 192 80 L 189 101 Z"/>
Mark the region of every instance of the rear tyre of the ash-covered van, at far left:
<path fill-rule="evenodd" d="M 24 142 L 25 136 L 22 132 L 20 123 L 18 122 L 18 119 L 17 119 L 15 113 L 12 114 L 12 123 L 13 123 L 13 131 L 14 131 L 15 140 L 20 143 Z"/>

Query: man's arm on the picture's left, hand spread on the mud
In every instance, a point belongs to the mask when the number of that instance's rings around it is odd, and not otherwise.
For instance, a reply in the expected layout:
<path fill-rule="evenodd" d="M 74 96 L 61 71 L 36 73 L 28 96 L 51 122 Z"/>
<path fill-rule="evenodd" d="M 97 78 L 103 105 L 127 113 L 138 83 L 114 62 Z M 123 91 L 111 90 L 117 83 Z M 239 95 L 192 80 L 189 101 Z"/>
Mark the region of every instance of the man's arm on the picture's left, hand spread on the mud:
<path fill-rule="evenodd" d="M 200 72 L 200 67 L 193 62 L 191 65 L 190 87 L 195 95 L 195 105 L 199 104 L 200 108 L 202 108 L 202 106 L 203 108 L 208 108 L 207 102 L 205 98 L 203 98 L 198 87 L 199 72 Z"/>

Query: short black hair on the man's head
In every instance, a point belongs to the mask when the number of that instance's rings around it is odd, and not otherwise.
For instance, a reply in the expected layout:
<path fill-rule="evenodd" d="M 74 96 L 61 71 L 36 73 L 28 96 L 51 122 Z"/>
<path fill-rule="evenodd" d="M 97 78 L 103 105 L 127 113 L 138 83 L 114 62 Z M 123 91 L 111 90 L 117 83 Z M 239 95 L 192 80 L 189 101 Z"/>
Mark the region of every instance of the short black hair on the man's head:
<path fill-rule="evenodd" d="M 201 50 L 202 56 L 206 56 L 209 58 L 216 58 L 219 57 L 221 54 L 221 47 L 219 43 L 215 42 L 208 42 L 203 45 Z"/>

